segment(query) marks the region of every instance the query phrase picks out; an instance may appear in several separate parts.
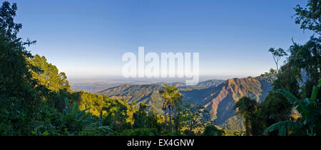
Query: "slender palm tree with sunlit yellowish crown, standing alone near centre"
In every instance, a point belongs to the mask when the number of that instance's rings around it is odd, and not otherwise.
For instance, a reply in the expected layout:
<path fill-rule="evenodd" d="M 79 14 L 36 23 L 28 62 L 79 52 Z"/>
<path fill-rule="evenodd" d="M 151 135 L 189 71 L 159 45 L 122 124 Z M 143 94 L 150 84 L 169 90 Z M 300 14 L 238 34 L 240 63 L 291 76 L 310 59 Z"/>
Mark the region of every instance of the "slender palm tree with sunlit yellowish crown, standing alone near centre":
<path fill-rule="evenodd" d="M 163 107 L 169 110 L 169 121 L 170 121 L 170 132 L 172 132 L 172 118 L 171 118 L 171 112 L 173 110 L 173 107 L 178 107 L 180 104 L 183 95 L 178 92 L 178 88 L 173 85 L 169 87 L 168 85 L 164 85 L 164 89 L 160 90 L 160 94 L 165 99 L 165 102 L 163 103 Z"/>

